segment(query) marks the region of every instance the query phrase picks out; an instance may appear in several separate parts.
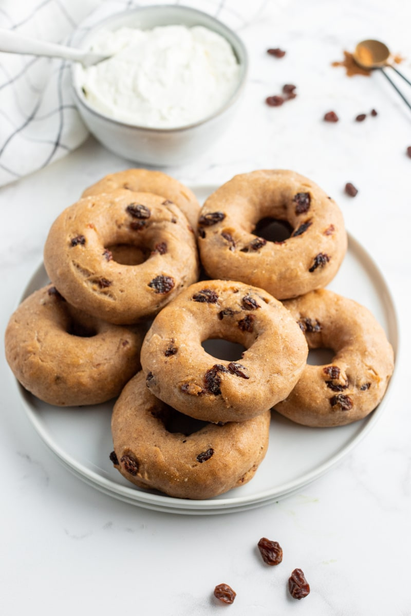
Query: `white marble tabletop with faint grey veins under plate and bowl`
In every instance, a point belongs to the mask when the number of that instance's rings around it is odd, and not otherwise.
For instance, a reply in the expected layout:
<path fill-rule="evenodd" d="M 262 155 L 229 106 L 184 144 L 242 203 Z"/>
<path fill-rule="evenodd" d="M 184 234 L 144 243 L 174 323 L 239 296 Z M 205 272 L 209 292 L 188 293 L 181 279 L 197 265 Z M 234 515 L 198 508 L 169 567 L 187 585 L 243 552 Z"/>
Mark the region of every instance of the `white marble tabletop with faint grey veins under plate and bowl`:
<path fill-rule="evenodd" d="M 357 40 L 379 37 L 407 58 L 401 68 L 411 77 L 408 5 L 290 0 L 279 10 L 267 2 L 264 15 L 241 31 L 251 68 L 235 124 L 212 152 L 171 169 L 204 184 L 291 168 L 340 203 L 348 229 L 389 281 L 401 324 L 402 357 L 380 421 L 336 468 L 279 503 L 227 516 L 158 513 L 97 492 L 55 460 L 20 408 L 2 356 L 1 614 L 411 614 L 411 111 L 381 75 L 349 79 L 330 67 Z M 266 55 L 277 46 L 287 51 L 282 60 Z M 298 97 L 266 107 L 265 97 L 284 83 L 295 83 Z M 353 121 L 372 108 L 376 118 Z M 338 124 L 322 122 L 329 110 Z M 57 214 L 86 185 L 128 166 L 89 139 L 59 163 L 2 188 L 2 331 Z M 348 181 L 359 188 L 354 199 L 343 193 Z M 278 567 L 258 556 L 263 536 L 283 547 Z M 299 602 L 287 593 L 295 567 L 311 584 Z M 237 591 L 230 607 L 213 599 L 221 582 Z"/>

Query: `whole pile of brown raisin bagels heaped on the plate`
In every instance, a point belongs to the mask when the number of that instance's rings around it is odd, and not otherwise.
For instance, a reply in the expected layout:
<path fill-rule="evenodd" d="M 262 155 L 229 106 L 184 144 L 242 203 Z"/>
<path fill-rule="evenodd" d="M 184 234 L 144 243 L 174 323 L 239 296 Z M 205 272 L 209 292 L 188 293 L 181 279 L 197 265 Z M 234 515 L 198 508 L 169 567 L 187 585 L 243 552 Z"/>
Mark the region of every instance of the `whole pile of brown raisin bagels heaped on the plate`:
<path fill-rule="evenodd" d="M 273 219 L 288 237 L 256 234 Z M 52 405 L 116 399 L 110 459 L 126 479 L 210 498 L 254 476 L 272 408 L 339 426 L 382 399 L 394 368 L 383 328 L 324 288 L 346 248 L 335 201 L 292 171 L 235 176 L 201 209 L 162 172 L 115 173 L 52 225 L 51 283 L 10 318 L 7 361 Z M 244 351 L 218 359 L 210 339 Z M 332 362 L 309 365 L 312 348 Z"/>

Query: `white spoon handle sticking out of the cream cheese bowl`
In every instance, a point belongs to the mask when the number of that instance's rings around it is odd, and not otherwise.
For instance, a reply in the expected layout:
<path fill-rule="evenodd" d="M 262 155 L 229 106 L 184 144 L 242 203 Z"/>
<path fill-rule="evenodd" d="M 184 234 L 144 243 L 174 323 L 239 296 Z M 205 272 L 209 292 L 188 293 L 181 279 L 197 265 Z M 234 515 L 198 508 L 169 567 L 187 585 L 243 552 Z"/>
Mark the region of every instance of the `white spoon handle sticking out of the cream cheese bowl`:
<path fill-rule="evenodd" d="M 73 49 L 55 43 L 46 43 L 37 39 L 20 36 L 15 32 L 0 28 L 0 51 L 8 54 L 46 55 L 47 57 L 63 58 L 71 62 L 81 62 L 84 67 L 107 60 L 109 55 L 94 54 L 83 49 Z"/>

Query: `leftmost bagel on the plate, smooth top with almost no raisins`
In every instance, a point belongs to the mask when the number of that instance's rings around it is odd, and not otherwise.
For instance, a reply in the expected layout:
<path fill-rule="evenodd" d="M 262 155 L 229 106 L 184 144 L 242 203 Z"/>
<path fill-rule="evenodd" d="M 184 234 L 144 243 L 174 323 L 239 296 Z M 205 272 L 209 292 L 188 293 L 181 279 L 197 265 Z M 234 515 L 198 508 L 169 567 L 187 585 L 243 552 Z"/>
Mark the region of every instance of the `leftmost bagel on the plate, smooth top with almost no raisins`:
<path fill-rule="evenodd" d="M 10 317 L 6 358 L 22 386 L 44 402 L 97 404 L 120 394 L 140 370 L 144 333 L 89 317 L 49 285 Z"/>

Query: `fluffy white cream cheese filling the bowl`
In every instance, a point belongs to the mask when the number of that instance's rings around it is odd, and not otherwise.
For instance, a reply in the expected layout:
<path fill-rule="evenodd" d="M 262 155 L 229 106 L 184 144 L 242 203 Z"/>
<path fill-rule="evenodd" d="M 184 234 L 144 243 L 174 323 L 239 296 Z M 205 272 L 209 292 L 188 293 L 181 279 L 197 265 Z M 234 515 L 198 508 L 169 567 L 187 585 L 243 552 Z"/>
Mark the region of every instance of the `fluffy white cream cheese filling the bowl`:
<path fill-rule="evenodd" d="M 79 84 L 89 105 L 147 128 L 179 128 L 213 115 L 240 78 L 228 41 L 204 26 L 99 30 L 92 49 L 113 55 L 81 70 Z"/>

